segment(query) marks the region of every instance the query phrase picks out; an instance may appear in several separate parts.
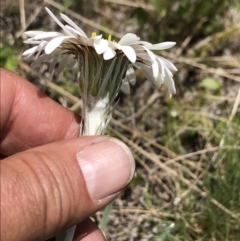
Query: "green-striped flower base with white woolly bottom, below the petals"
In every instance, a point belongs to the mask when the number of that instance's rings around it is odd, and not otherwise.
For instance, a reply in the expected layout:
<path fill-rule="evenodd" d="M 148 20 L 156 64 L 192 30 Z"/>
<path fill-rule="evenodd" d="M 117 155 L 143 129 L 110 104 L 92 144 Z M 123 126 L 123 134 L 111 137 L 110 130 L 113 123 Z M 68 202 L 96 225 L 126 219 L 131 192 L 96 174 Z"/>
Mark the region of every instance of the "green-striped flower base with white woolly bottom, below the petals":
<path fill-rule="evenodd" d="M 84 121 L 80 135 L 101 135 L 111 119 L 129 61 L 121 53 L 106 61 L 92 48 L 77 55 Z"/>

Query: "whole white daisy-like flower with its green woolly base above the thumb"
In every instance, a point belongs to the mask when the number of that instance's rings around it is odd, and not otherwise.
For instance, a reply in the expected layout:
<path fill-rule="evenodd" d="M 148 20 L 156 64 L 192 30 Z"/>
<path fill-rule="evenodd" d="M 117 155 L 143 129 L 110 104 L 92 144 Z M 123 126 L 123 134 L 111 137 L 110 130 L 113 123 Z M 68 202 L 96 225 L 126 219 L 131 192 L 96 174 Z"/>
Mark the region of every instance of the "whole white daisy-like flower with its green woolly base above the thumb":
<path fill-rule="evenodd" d="M 134 68 L 139 68 L 157 87 L 166 84 L 170 95 L 175 93 L 172 72 L 176 67 L 167 59 L 155 55 L 152 50 L 164 50 L 174 42 L 151 44 L 141 41 L 133 34 L 125 34 L 118 42 L 104 39 L 93 33 L 88 37 L 70 18 L 61 14 L 63 24 L 46 8 L 52 19 L 62 28 L 62 32 L 28 31 L 27 44 L 34 47 L 23 56 L 35 55 L 34 65 L 51 60 L 49 71 L 58 64 L 57 71 L 64 67 L 78 66 L 78 80 L 83 112 L 85 113 L 85 134 L 102 134 L 110 119 L 119 90 L 130 92 L 130 84 L 135 84 Z M 89 120 L 91 119 L 91 121 Z M 98 121 L 99 120 L 99 121 Z M 95 123 L 90 125 L 88 123 Z"/>

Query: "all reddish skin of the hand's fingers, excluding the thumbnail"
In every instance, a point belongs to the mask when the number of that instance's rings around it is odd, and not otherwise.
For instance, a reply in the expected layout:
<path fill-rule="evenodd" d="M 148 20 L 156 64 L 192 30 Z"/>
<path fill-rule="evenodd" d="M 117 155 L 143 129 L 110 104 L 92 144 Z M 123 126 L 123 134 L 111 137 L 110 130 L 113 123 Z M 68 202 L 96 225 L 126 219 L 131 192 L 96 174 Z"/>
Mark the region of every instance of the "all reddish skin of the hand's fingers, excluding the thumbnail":
<path fill-rule="evenodd" d="M 79 134 L 78 115 L 22 77 L 1 68 L 0 110 L 0 154 L 5 156 Z M 94 137 L 82 141 L 76 149 L 89 145 Z M 75 153 L 72 158 L 68 155 L 72 153 L 70 149 L 75 152 L 75 145 L 64 143 L 60 149 L 65 148 L 68 154 L 58 153 L 59 162 L 55 162 L 55 144 L 1 161 L 1 240 L 46 239 L 81 222 L 114 198 L 92 201 L 79 166 L 73 161 Z M 76 240 L 105 240 L 88 219 L 78 225 L 76 235 L 81 237 Z"/>

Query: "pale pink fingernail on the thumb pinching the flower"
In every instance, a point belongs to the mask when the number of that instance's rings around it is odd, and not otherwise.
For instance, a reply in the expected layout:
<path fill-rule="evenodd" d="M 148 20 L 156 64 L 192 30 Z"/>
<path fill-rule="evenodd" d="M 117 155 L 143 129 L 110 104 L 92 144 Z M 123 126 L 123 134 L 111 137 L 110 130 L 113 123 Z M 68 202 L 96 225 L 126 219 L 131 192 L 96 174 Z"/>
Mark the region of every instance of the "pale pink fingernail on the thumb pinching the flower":
<path fill-rule="evenodd" d="M 130 182 L 135 171 L 131 151 L 114 138 L 86 147 L 77 154 L 77 159 L 94 200 L 118 193 Z"/>

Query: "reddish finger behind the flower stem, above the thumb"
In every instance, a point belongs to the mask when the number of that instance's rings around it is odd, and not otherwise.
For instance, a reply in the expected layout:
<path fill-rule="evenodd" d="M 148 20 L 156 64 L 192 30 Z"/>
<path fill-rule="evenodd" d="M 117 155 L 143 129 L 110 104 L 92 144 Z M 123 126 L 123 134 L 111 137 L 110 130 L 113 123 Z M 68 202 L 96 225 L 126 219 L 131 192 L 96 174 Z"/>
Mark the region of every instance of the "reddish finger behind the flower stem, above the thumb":
<path fill-rule="evenodd" d="M 0 69 L 0 152 L 10 156 L 31 147 L 77 137 L 80 117 L 24 78 Z"/>

